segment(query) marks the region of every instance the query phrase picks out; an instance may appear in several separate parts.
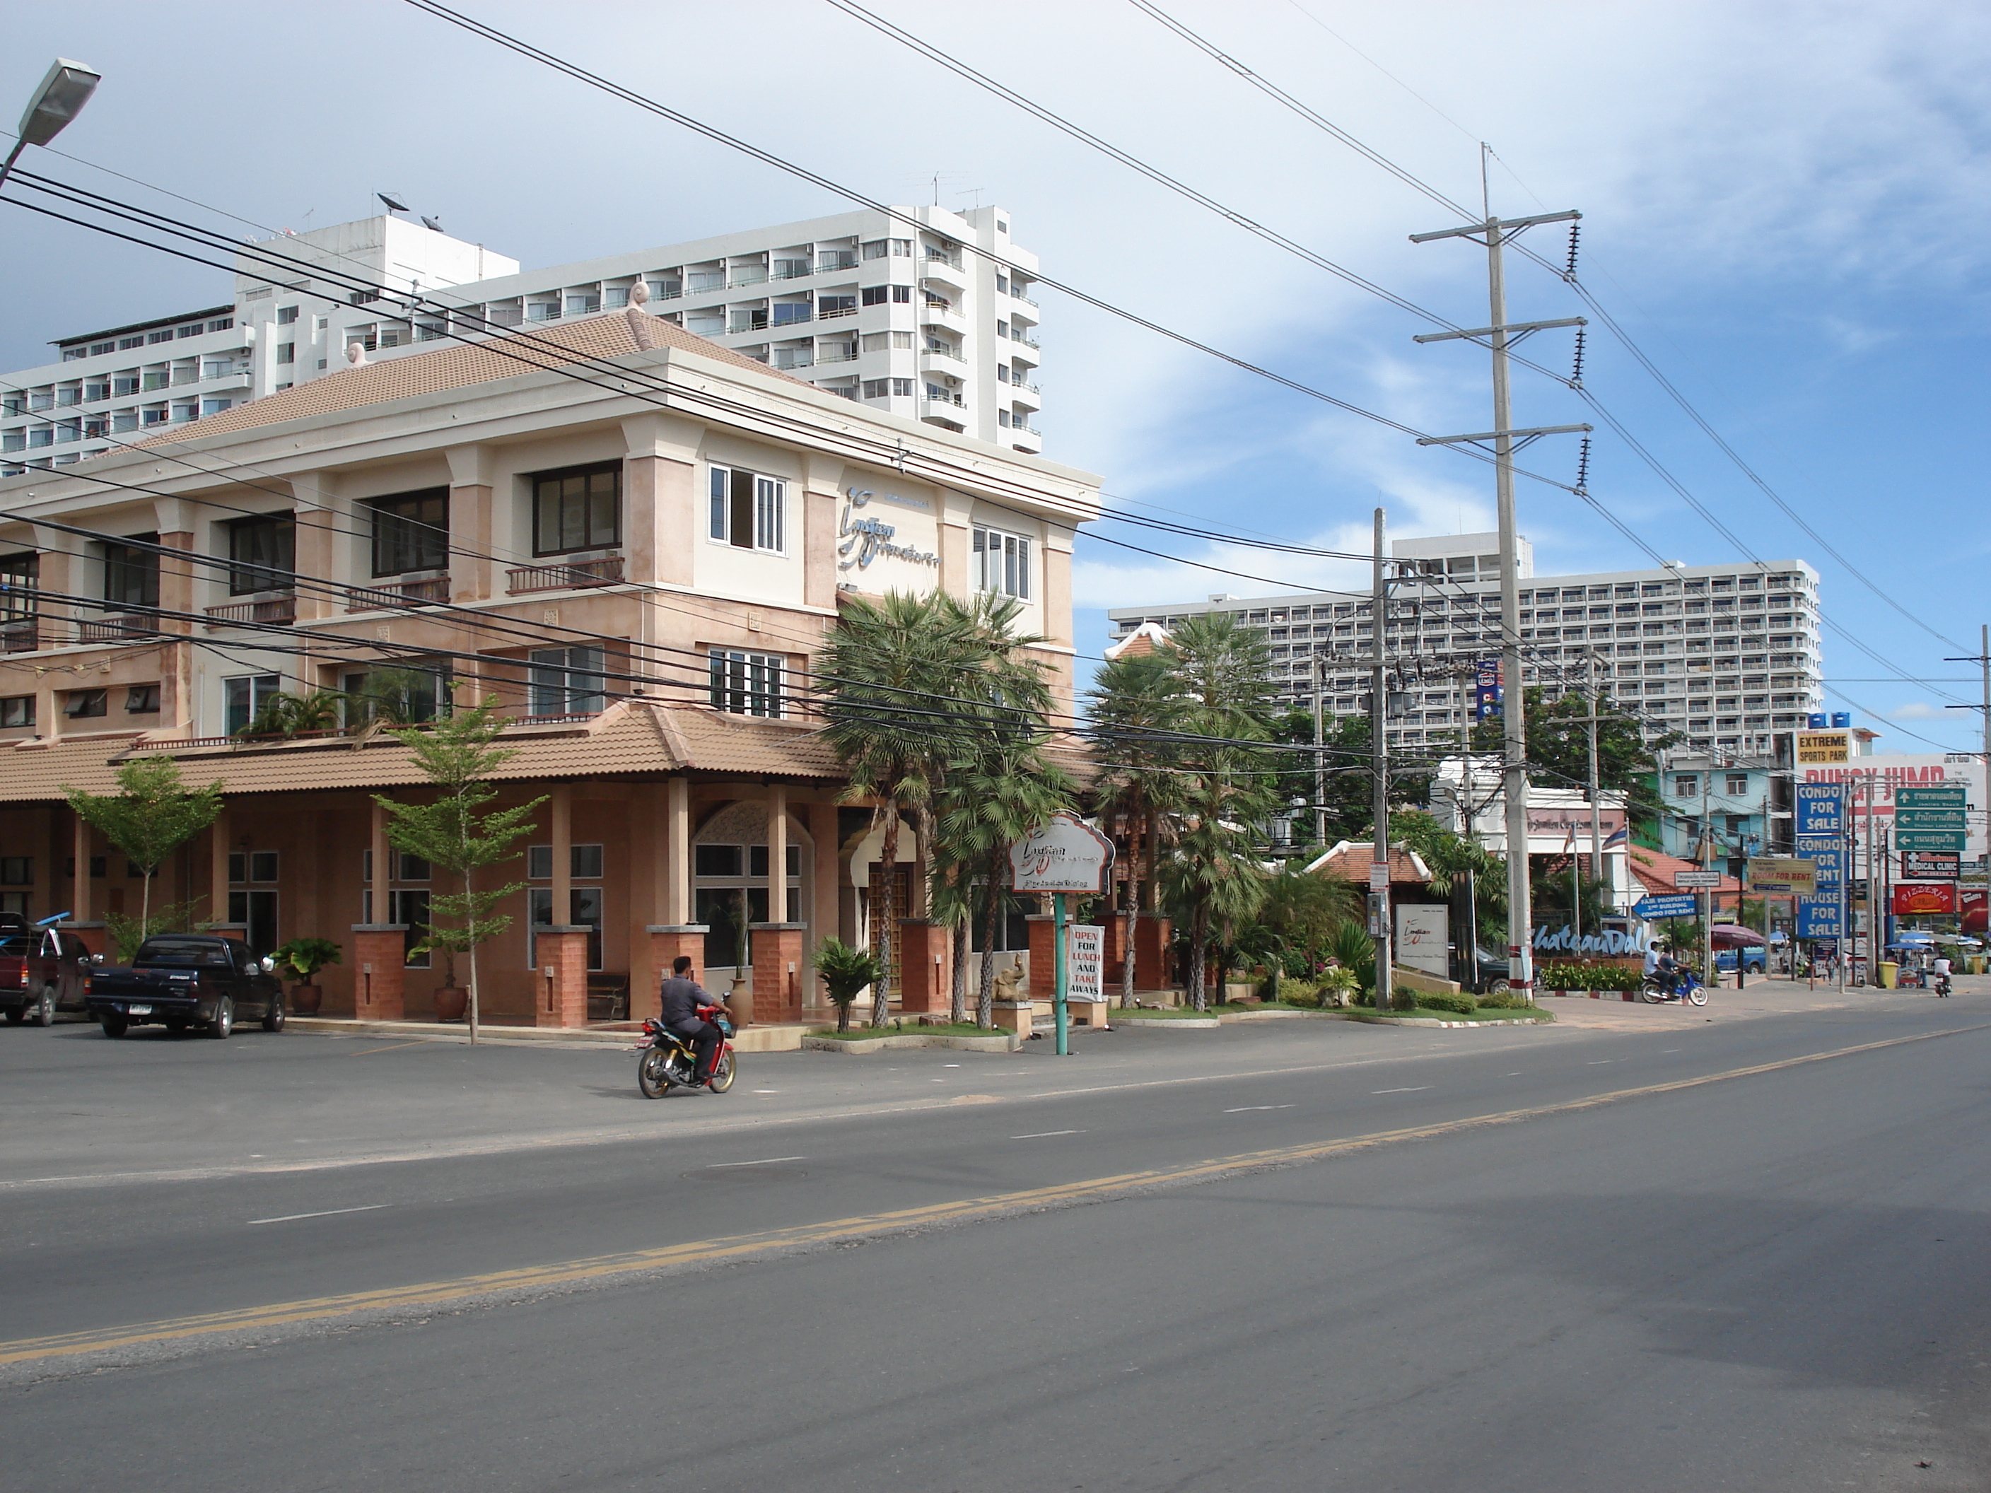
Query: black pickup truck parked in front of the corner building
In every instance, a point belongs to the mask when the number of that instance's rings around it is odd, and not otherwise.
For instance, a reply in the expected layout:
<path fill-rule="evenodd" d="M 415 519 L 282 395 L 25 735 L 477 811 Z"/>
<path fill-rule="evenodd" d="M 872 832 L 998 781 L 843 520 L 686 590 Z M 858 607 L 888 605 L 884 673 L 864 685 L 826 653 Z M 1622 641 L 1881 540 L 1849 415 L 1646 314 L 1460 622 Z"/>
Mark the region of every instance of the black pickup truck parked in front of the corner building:
<path fill-rule="evenodd" d="M 275 967 L 235 938 L 159 934 L 139 944 L 129 969 L 94 971 L 86 999 L 106 1037 L 147 1021 L 175 1037 L 193 1025 L 209 1037 L 227 1037 L 237 1015 L 261 1017 L 263 1031 L 283 1031 L 283 981 Z"/>

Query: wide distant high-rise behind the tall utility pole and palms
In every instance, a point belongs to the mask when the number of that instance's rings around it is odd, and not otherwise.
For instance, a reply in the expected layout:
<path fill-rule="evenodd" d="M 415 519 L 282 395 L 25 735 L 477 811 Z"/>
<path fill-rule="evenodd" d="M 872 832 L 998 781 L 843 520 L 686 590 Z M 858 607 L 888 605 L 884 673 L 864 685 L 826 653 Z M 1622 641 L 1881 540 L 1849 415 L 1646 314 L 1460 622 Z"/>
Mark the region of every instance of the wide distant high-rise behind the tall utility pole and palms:
<path fill-rule="evenodd" d="M 1392 543 L 1394 559 L 1414 563 L 1392 567 L 1408 579 L 1392 583 L 1384 619 L 1400 665 L 1390 745 L 1445 746 L 1471 725 L 1475 665 L 1501 653 L 1497 549 L 1493 533 Z M 1760 754 L 1820 709 L 1818 571 L 1802 559 L 1535 575 L 1523 539 L 1519 569 L 1523 685 L 1549 699 L 1595 677 L 1637 705 L 1649 741 L 1680 733 L 1690 746 Z M 1213 611 L 1264 631 L 1284 703 L 1312 709 L 1318 681 L 1330 717 L 1368 713 L 1370 677 L 1354 657 L 1376 631 L 1366 591 L 1213 595 L 1107 617 L 1125 639 Z"/>

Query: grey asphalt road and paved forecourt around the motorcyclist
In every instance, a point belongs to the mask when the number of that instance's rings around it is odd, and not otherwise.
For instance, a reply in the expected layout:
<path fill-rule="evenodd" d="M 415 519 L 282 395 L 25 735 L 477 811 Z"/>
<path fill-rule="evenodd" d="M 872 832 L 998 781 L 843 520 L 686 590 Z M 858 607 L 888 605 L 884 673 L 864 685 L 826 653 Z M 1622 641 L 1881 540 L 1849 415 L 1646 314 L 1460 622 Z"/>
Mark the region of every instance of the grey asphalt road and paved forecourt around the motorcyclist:
<path fill-rule="evenodd" d="M 0 1487 L 1983 1489 L 1959 983 L 659 1103 L 613 1051 L 6 1029 Z"/>

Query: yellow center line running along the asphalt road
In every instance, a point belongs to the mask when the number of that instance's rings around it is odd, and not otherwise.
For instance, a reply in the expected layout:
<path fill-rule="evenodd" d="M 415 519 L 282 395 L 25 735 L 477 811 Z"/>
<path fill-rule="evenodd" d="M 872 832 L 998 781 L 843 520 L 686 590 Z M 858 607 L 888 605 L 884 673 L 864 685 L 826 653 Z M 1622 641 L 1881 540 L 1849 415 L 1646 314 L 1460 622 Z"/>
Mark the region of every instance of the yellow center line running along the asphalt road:
<path fill-rule="evenodd" d="M 858 1214 L 854 1218 L 832 1218 L 814 1224 L 794 1224 L 790 1228 L 769 1228 L 759 1234 L 735 1234 L 729 1238 L 701 1238 L 687 1244 L 667 1244 L 653 1250 L 627 1250 L 623 1254 L 597 1254 L 581 1260 L 559 1260 L 553 1264 L 522 1266 L 518 1270 L 494 1270 L 478 1276 L 456 1276 L 452 1280 L 428 1280 L 412 1286 L 388 1286 L 382 1290 L 350 1292 L 344 1296 L 315 1296 L 297 1302 L 273 1302 L 269 1306 L 243 1306 L 227 1312 L 203 1316 L 167 1318 L 163 1322 L 139 1322 L 123 1328 L 94 1328 L 88 1332 L 68 1332 L 52 1338 L 20 1338 L 0 1342 L 0 1366 L 26 1364 L 32 1360 L 78 1358 L 102 1354 L 117 1348 L 139 1348 L 147 1344 L 183 1342 L 223 1332 L 257 1332 L 297 1322 L 332 1322 L 360 1316 L 364 1312 L 406 1310 L 436 1306 L 442 1302 L 462 1302 L 518 1290 L 548 1290 L 607 1276 L 627 1276 L 657 1270 L 683 1270 L 689 1266 L 741 1262 L 769 1256 L 782 1250 L 820 1248 L 824 1244 L 844 1244 L 864 1238 L 904 1234 L 918 1228 L 948 1228 L 972 1222 L 988 1222 L 1017 1212 L 1045 1212 L 1051 1208 L 1071 1208 L 1087 1202 L 1107 1202 L 1133 1196 L 1157 1186 L 1195 1186 L 1217 1182 L 1228 1176 L 1242 1176 L 1274 1167 L 1300 1167 L 1332 1157 L 1346 1157 L 1356 1151 L 1370 1151 L 1404 1141 L 1430 1141 L 1441 1135 L 1489 1129 L 1495 1125 L 1519 1125 L 1523 1121 L 1547 1119 L 1551 1115 L 1575 1115 L 1585 1109 L 1603 1109 L 1631 1099 L 1651 1099 L 1655 1095 L 1700 1089 L 1714 1083 L 1780 1073 L 1810 1063 L 1826 1063 L 1838 1057 L 1878 1053 L 1887 1047 L 1905 1047 L 1937 1037 L 1959 1037 L 1969 1031 L 1987 1031 L 1987 1025 L 1949 1027 L 1925 1031 L 1913 1037 L 1889 1037 L 1885 1041 L 1860 1043 L 1858 1047 L 1834 1047 L 1824 1053 L 1804 1057 L 1784 1057 L 1774 1063 L 1734 1067 L 1722 1073 L 1708 1073 L 1696 1079 L 1670 1079 L 1666 1083 L 1645 1083 L 1635 1089 L 1613 1089 L 1585 1099 L 1567 1099 L 1555 1105 L 1533 1105 L 1529 1109 L 1507 1109 L 1495 1115 L 1473 1115 L 1469 1119 L 1438 1121 L 1432 1125 L 1408 1125 L 1394 1131 L 1372 1131 L 1336 1141 L 1308 1141 L 1302 1145 L 1276 1147 L 1272 1151 L 1246 1151 L 1234 1157 L 1215 1157 L 1211 1161 L 1185 1163 L 1181 1167 L 1157 1167 L 1139 1173 L 1119 1173 L 1115 1176 L 1091 1176 L 1077 1182 L 1053 1186 L 1033 1186 L 1019 1192 L 996 1192 L 982 1198 L 962 1198 L 956 1202 L 932 1202 L 918 1208 L 894 1212 Z"/>

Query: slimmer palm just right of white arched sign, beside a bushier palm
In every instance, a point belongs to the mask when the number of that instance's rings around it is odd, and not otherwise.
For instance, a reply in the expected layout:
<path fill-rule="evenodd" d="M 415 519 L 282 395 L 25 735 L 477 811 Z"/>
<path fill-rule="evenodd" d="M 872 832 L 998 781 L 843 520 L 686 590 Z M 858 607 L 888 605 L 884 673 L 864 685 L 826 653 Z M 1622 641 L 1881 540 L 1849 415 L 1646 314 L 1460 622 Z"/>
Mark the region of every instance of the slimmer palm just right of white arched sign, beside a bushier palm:
<path fill-rule="evenodd" d="M 1145 902 L 1145 872 L 1153 866 L 1165 838 L 1173 838 L 1175 762 L 1181 756 L 1173 741 L 1187 699 L 1175 677 L 1171 659 L 1161 653 L 1123 655 L 1113 659 L 1093 681 L 1089 699 L 1091 737 L 1101 760 L 1095 792 L 1099 814 L 1115 820 L 1127 840 L 1127 866 L 1121 880 L 1121 1007 L 1133 1005 L 1135 936 Z"/>

